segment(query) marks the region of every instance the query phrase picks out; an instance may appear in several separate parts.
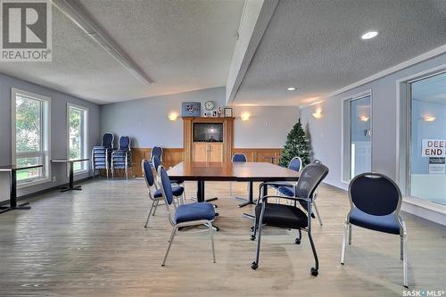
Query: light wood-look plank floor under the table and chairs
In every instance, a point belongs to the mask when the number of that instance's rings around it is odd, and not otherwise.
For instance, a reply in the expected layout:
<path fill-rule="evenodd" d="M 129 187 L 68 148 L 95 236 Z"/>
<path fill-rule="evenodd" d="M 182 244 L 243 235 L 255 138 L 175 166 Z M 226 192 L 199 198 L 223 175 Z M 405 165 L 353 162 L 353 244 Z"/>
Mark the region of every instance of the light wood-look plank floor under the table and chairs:
<path fill-rule="evenodd" d="M 219 196 L 221 231 L 211 263 L 209 235 L 179 232 L 165 268 L 161 260 L 171 227 L 162 205 L 144 228 L 149 199 L 143 180 L 88 182 L 82 192 L 30 199 L 32 210 L 0 215 L 1 296 L 401 296 L 399 237 L 353 227 L 346 264 L 339 263 L 347 195 L 321 186 L 313 221 L 319 276 L 310 276 L 308 236 L 266 227 L 260 267 L 254 271 L 252 222 L 229 197 L 228 183 L 206 183 Z M 257 186 L 256 186 L 257 188 Z M 186 183 L 186 196 L 194 194 Z M 233 194 L 246 195 L 244 183 Z M 190 200 L 188 200 L 190 202 Z M 407 219 L 411 290 L 445 290 L 446 234 Z"/>

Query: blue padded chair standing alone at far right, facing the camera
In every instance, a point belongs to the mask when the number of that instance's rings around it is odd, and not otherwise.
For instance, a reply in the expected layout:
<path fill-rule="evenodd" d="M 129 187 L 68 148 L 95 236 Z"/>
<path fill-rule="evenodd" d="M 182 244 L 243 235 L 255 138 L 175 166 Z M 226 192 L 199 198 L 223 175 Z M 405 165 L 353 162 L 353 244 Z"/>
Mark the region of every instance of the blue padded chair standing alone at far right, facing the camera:
<path fill-rule="evenodd" d="M 351 225 L 400 235 L 403 284 L 408 287 L 407 233 L 406 224 L 400 216 L 400 188 L 384 174 L 366 172 L 351 180 L 349 197 L 351 209 L 344 222 L 341 264 L 345 263 L 347 233 L 351 244 Z"/>

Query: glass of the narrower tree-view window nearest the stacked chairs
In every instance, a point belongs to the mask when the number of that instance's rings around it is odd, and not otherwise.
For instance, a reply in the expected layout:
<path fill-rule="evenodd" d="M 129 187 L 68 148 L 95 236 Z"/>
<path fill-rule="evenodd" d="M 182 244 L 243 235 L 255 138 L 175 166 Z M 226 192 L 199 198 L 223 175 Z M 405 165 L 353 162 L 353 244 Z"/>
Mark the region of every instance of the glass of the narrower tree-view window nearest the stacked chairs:
<path fill-rule="evenodd" d="M 87 158 L 87 108 L 67 105 L 69 159 Z M 75 162 L 74 171 L 87 170 L 87 161 Z"/>

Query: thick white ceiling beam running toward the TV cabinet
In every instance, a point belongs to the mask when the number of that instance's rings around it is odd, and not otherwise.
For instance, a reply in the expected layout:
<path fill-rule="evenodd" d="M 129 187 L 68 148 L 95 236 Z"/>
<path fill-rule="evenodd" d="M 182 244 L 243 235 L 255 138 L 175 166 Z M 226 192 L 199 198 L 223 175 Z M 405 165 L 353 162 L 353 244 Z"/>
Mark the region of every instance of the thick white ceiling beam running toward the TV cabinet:
<path fill-rule="evenodd" d="M 261 38 L 276 10 L 278 0 L 245 0 L 226 85 L 226 103 L 235 100 Z"/>

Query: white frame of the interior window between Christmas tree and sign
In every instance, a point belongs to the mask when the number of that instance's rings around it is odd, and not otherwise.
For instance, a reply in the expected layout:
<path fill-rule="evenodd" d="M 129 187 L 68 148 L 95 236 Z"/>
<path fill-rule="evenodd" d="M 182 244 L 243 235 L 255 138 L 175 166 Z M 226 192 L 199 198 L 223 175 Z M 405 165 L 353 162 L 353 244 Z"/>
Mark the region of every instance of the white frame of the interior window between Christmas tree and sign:
<path fill-rule="evenodd" d="M 373 172 L 373 92 L 372 89 L 367 89 L 354 95 L 347 96 L 342 99 L 341 104 L 341 119 L 342 131 L 341 131 L 341 181 L 350 185 L 351 182 L 351 102 L 370 97 L 370 130 L 372 132 L 370 136 L 370 171 Z"/>

